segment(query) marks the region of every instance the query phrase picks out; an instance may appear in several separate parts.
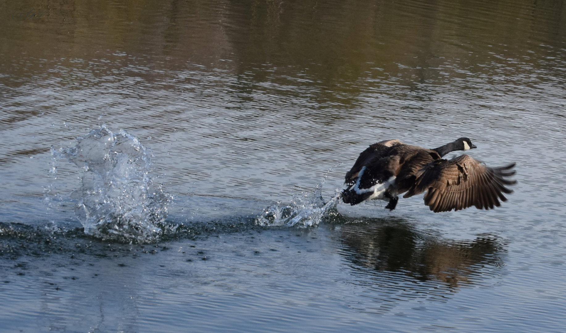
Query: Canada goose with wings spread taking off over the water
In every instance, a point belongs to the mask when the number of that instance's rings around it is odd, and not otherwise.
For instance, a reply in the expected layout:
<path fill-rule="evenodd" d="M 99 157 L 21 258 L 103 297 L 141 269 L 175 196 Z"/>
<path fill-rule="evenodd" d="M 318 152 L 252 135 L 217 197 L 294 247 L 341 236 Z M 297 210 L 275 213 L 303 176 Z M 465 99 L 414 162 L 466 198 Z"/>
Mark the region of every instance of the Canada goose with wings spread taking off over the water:
<path fill-rule="evenodd" d="M 426 149 L 411 146 L 399 140 L 385 140 L 369 146 L 346 174 L 342 201 L 357 205 L 368 199 L 388 201 L 385 208 L 395 209 L 398 194 L 404 198 L 427 191 L 424 204 L 430 210 L 451 211 L 475 206 L 492 209 L 500 206 L 498 197 L 507 201 L 503 193 L 513 193 L 504 185 L 515 184 L 505 179 L 515 174 L 515 166 L 491 168 L 466 154 L 453 159 L 442 159 L 454 150 L 477 148 L 470 139 L 461 137 L 444 146 Z"/>

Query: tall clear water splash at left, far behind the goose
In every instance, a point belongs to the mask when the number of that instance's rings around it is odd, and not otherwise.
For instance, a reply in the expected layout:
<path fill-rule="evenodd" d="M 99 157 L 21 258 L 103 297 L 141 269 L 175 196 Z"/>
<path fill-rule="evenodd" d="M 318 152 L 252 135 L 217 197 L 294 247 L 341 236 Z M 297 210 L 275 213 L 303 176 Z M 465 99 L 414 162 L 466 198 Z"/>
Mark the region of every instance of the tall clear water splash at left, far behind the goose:
<path fill-rule="evenodd" d="M 54 165 L 66 158 L 84 170 L 81 187 L 70 194 L 84 232 L 119 241 L 157 240 L 170 196 L 153 185 L 145 147 L 126 131 L 114 134 L 104 125 L 77 140 L 74 147 L 52 149 L 52 154 Z"/>

